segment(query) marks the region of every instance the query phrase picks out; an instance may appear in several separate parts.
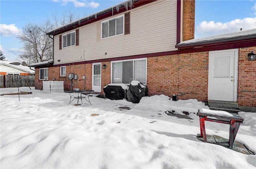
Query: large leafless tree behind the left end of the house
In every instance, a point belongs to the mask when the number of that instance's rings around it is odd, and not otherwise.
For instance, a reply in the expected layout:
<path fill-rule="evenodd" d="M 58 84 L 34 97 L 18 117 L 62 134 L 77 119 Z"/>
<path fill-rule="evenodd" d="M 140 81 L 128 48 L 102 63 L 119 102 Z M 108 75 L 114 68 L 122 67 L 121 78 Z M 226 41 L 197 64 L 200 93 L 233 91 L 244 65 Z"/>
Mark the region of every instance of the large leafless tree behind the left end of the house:
<path fill-rule="evenodd" d="M 24 44 L 24 52 L 19 55 L 21 63 L 30 65 L 42 61 L 49 61 L 53 58 L 53 39 L 46 35 L 54 27 L 65 25 L 74 20 L 75 14 L 66 11 L 62 13 L 61 19 L 57 14 L 53 15 L 53 20 L 46 20 L 44 24 L 27 24 L 22 29 L 22 34 L 18 36 Z"/>

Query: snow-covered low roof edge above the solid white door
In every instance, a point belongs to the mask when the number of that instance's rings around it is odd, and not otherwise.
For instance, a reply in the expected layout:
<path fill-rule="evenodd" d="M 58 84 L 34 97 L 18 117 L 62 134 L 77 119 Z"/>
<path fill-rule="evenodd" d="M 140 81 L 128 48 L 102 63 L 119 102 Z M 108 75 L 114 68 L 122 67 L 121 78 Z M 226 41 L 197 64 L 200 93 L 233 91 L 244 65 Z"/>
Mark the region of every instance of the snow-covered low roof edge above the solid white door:
<path fill-rule="evenodd" d="M 204 37 L 200 39 L 191 39 L 188 41 L 183 41 L 178 43 L 176 47 L 188 47 L 188 46 L 194 46 L 194 45 L 200 45 L 200 44 L 211 44 L 211 43 L 236 41 L 236 40 L 251 39 L 251 38 L 256 38 L 256 29 L 237 31 L 234 33 Z"/>

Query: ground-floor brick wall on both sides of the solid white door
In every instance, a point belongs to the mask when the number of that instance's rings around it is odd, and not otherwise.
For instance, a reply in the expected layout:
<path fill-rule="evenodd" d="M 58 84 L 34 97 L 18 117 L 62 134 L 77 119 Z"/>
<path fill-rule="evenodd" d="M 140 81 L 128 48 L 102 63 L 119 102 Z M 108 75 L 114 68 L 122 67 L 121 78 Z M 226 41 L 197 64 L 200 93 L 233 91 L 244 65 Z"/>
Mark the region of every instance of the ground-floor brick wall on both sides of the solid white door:
<path fill-rule="evenodd" d="M 238 51 L 238 104 L 256 107 L 256 61 L 248 61 L 248 53 L 256 47 Z M 147 67 L 149 95 L 176 94 L 178 99 L 208 100 L 209 52 L 150 57 Z"/>

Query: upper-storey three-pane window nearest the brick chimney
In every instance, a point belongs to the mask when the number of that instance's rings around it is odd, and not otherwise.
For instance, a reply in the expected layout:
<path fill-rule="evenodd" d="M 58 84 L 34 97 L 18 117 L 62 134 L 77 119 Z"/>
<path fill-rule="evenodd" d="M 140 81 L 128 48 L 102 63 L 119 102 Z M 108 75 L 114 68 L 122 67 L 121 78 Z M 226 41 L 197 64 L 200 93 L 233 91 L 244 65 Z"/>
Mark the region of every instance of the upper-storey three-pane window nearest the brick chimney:
<path fill-rule="evenodd" d="M 102 39 L 124 33 L 124 16 L 102 22 Z"/>

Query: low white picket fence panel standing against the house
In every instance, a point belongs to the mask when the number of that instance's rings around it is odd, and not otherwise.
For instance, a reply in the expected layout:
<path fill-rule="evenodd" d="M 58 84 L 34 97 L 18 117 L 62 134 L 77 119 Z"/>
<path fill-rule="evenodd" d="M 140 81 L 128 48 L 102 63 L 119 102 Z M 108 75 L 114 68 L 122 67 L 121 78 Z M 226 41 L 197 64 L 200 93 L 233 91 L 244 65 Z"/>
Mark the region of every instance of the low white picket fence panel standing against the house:
<path fill-rule="evenodd" d="M 64 81 L 43 81 L 44 93 L 63 93 Z"/>

